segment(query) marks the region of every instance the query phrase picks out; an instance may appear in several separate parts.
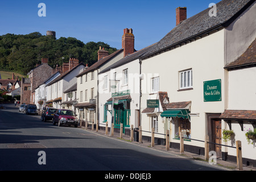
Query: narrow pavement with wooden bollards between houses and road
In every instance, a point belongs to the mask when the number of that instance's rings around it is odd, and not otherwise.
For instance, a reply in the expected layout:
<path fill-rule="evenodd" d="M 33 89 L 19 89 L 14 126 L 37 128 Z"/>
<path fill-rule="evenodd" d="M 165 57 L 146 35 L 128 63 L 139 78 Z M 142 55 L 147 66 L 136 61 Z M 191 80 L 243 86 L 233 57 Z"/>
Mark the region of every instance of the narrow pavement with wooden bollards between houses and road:
<path fill-rule="evenodd" d="M 79 129 L 85 130 L 85 127 L 80 127 Z M 180 151 L 175 149 L 175 148 L 170 148 L 169 151 L 166 151 L 166 146 L 164 146 L 162 144 L 155 144 L 154 147 L 151 147 L 151 142 L 147 142 L 146 140 L 143 140 L 142 143 L 131 142 L 129 135 L 124 135 L 123 134 L 122 139 L 121 139 L 119 133 L 114 133 L 114 136 L 110 137 L 109 134 L 108 135 L 105 134 L 105 130 L 96 131 L 96 130 L 92 130 L 90 127 L 88 127 L 88 129 L 86 131 L 90 131 L 90 132 L 98 134 L 98 135 L 103 135 L 105 137 L 122 140 L 123 142 L 133 143 L 133 144 L 136 144 L 138 146 L 147 147 L 147 148 L 150 148 L 151 150 L 159 150 L 159 151 L 171 154 L 171 155 L 177 155 L 181 158 L 187 158 L 187 159 L 192 159 L 192 160 L 201 160 L 202 162 L 208 163 L 208 161 L 204 160 L 204 155 L 194 154 L 194 153 L 186 152 L 186 151 L 184 151 L 184 154 L 181 155 Z M 213 165 L 213 164 L 209 164 L 209 165 Z M 218 165 L 220 167 L 223 167 L 223 168 L 226 168 L 230 171 L 241 171 L 237 168 L 237 163 L 225 161 L 225 160 L 222 160 L 221 158 L 217 158 L 217 164 L 216 165 Z M 256 171 L 256 168 L 251 167 L 251 166 L 243 165 L 243 170 L 242 171 Z"/>

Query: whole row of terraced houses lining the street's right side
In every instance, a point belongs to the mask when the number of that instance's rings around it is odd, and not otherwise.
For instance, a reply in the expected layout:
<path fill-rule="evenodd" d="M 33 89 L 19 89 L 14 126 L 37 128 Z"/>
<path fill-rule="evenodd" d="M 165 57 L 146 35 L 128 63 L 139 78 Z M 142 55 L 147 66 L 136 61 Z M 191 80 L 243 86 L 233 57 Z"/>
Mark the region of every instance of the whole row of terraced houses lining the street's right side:
<path fill-rule="evenodd" d="M 256 5 L 253 0 L 223 0 L 187 18 L 187 8 L 176 9 L 176 26 L 159 42 L 137 51 L 131 28 L 125 28 L 122 48 L 109 55 L 103 47 L 88 67 L 70 59 L 52 69 L 47 59 L 29 75 L 30 102 L 38 107 L 72 109 L 80 122 L 142 127 L 143 140 L 204 155 L 205 136 L 223 160 L 236 161 L 236 140 L 242 142 L 243 163 L 256 166 L 255 139 L 246 139 L 256 128 Z M 48 68 L 49 67 L 49 68 Z M 36 77 L 39 69 L 44 76 Z M 47 70 L 47 71 L 45 71 Z M 113 119 L 112 119 L 113 117 Z M 109 125 L 110 127 L 110 125 Z M 233 130 L 229 140 L 223 130 Z M 197 139 L 197 140 L 192 140 Z"/>

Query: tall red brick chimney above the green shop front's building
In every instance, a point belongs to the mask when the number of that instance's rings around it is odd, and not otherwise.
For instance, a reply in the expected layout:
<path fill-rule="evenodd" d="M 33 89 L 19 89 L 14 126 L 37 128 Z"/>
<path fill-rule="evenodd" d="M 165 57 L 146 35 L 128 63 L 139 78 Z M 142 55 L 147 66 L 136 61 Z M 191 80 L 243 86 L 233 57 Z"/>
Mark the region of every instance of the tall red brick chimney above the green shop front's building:
<path fill-rule="evenodd" d="M 123 57 L 125 57 L 131 53 L 134 53 L 133 29 L 131 29 L 131 28 L 123 29 L 122 48 L 123 48 Z"/>

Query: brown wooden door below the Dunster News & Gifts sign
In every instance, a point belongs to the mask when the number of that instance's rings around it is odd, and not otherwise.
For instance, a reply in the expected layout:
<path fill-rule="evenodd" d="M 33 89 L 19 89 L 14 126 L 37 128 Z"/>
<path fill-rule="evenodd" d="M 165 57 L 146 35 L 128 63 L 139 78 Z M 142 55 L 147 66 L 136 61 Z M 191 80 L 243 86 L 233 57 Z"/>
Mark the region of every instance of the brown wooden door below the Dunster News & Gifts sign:
<path fill-rule="evenodd" d="M 213 119 L 213 130 L 213 143 L 221 144 L 221 119 Z M 218 144 L 214 144 L 214 151 L 216 151 L 217 156 L 221 156 L 221 146 Z"/>

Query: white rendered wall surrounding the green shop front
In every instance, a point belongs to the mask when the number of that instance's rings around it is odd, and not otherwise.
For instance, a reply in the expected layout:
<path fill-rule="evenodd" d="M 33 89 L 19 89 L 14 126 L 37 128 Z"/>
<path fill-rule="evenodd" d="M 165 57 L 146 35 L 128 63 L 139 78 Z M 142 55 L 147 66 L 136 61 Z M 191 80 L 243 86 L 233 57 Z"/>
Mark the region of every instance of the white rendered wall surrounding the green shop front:
<path fill-rule="evenodd" d="M 123 84 L 123 70 L 128 69 L 128 84 Z M 109 100 L 109 98 L 112 98 L 112 93 L 110 93 L 110 83 L 109 80 L 113 80 L 113 74 L 117 73 L 116 80 L 119 81 L 119 91 L 121 92 L 123 90 L 130 90 L 130 96 L 131 96 L 131 102 L 130 102 L 130 126 L 134 125 L 134 127 L 137 126 L 137 114 L 135 110 L 139 110 L 139 60 L 131 61 L 130 63 L 121 65 L 117 68 L 112 69 L 111 71 L 101 73 L 99 75 L 99 104 L 100 104 L 100 123 L 104 122 L 104 105 Z M 104 77 L 108 76 L 108 88 L 104 89 Z M 111 122 L 111 114 L 108 111 L 108 122 Z M 109 125 L 110 127 L 110 125 Z"/>

